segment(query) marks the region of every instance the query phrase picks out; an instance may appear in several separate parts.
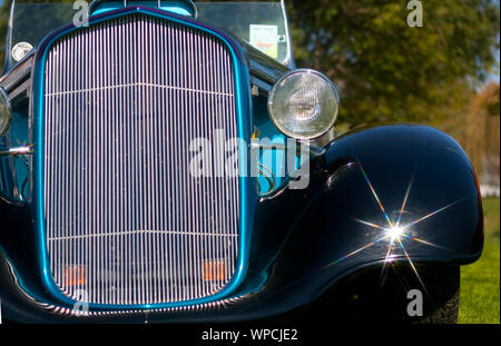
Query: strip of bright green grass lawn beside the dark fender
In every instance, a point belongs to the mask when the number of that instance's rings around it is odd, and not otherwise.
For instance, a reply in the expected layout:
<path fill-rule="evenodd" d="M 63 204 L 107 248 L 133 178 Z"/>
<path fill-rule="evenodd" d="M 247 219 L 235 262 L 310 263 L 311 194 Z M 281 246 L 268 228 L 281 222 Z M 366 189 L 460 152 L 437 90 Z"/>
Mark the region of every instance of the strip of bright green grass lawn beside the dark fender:
<path fill-rule="evenodd" d="M 499 198 L 483 199 L 485 245 L 482 257 L 461 267 L 461 297 L 458 323 L 500 323 Z"/>

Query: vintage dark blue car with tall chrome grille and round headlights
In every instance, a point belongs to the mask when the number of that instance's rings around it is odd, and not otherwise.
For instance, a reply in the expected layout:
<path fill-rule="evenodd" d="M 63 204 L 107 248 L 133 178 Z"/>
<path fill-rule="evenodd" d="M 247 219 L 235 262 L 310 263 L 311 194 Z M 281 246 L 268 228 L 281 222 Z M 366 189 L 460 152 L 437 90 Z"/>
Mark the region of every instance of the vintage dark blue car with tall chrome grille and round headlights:
<path fill-rule="evenodd" d="M 466 155 L 420 125 L 338 136 L 284 2 L 12 2 L 6 46 L 3 319 L 456 320 Z"/>

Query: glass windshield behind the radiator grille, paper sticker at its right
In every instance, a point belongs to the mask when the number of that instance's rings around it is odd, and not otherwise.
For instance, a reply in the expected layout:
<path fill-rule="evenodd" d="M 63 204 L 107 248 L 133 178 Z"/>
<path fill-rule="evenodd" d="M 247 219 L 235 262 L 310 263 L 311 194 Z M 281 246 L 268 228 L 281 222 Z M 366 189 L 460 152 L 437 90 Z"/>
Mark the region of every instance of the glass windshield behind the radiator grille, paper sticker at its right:
<path fill-rule="evenodd" d="M 291 65 L 288 28 L 283 2 L 195 2 L 197 19 L 247 41 L 285 66 Z M 72 22 L 72 2 L 16 2 L 12 12 L 11 62 L 59 27 Z"/>

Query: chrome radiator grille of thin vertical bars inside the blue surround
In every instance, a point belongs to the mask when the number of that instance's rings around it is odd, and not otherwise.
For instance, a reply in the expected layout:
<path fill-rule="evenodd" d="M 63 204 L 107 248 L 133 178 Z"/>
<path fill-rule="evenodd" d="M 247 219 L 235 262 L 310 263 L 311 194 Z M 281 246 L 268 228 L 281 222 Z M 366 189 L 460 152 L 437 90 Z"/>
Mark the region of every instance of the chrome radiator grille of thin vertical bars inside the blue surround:
<path fill-rule="evenodd" d="M 60 38 L 45 73 L 42 202 L 63 294 L 141 305 L 220 291 L 237 260 L 238 179 L 193 177 L 189 145 L 236 137 L 224 43 L 134 14 Z"/>

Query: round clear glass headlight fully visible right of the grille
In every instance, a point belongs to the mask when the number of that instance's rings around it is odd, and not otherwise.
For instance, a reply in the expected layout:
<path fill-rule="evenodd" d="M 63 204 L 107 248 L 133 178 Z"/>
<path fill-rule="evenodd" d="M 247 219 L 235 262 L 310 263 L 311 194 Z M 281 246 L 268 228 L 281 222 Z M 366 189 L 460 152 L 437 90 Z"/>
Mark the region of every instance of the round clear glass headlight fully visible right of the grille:
<path fill-rule="evenodd" d="M 298 139 L 313 139 L 327 132 L 334 126 L 338 106 L 335 86 L 313 70 L 285 75 L 268 96 L 268 111 L 275 126 Z"/>

